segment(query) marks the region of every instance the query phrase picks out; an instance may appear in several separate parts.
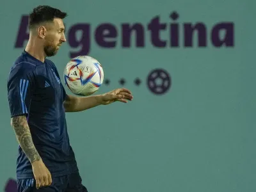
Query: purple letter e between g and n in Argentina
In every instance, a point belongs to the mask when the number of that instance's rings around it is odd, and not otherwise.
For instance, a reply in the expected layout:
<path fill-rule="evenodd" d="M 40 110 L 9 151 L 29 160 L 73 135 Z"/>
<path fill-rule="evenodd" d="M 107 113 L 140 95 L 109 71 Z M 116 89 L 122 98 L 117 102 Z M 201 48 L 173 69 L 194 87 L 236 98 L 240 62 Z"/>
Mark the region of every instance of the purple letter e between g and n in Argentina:
<path fill-rule="evenodd" d="M 115 47 L 116 40 L 110 38 L 116 38 L 116 36 L 117 31 L 113 24 L 101 24 L 95 30 L 95 40 L 101 47 Z"/>

